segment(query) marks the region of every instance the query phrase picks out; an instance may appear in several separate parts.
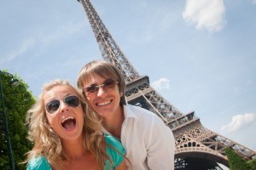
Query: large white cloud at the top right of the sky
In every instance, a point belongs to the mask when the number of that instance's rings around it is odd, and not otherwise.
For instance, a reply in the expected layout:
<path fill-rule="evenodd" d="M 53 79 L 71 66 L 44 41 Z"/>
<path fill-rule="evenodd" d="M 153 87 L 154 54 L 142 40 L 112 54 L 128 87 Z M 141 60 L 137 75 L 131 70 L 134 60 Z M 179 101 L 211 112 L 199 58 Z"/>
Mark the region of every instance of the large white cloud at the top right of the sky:
<path fill-rule="evenodd" d="M 196 29 L 220 31 L 225 26 L 223 0 L 187 0 L 183 19 L 196 25 Z"/>

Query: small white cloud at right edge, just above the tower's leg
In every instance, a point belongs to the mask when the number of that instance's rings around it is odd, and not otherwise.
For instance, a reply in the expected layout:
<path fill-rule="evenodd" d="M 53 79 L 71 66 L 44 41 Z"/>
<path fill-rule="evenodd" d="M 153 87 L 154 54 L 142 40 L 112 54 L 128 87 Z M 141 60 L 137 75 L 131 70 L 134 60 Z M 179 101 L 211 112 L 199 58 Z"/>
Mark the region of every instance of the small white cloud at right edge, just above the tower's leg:
<path fill-rule="evenodd" d="M 232 117 L 232 122 L 221 127 L 221 130 L 232 133 L 243 127 L 246 127 L 256 121 L 256 115 L 253 113 L 246 113 L 244 115 L 236 115 Z"/>

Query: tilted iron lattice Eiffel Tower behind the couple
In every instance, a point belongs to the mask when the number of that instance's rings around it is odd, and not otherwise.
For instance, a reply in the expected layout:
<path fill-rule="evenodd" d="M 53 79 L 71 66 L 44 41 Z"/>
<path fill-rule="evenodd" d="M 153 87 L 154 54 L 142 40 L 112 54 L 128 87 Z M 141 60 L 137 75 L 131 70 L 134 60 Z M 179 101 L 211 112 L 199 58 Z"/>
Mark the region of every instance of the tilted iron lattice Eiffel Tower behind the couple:
<path fill-rule="evenodd" d="M 194 111 L 183 114 L 160 96 L 150 86 L 149 78 L 140 76 L 122 53 L 90 0 L 78 1 L 87 14 L 102 58 L 116 65 L 125 78 L 127 102 L 154 112 L 172 129 L 176 139 L 175 169 L 222 169 L 217 162 L 229 167 L 224 153 L 226 147 L 232 148 L 245 159 L 256 157 L 255 151 L 203 127 Z"/>

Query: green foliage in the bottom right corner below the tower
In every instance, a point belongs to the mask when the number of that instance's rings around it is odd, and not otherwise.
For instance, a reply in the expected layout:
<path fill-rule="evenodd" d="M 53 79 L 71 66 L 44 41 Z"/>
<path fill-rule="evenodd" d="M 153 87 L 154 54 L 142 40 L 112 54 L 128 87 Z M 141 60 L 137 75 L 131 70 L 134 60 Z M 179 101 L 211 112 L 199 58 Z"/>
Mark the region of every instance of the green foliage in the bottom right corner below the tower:
<path fill-rule="evenodd" d="M 236 154 L 231 148 L 226 148 L 225 153 L 228 156 L 228 161 L 230 164 L 230 170 L 255 170 L 256 169 L 256 159 L 245 161 L 241 156 Z"/>

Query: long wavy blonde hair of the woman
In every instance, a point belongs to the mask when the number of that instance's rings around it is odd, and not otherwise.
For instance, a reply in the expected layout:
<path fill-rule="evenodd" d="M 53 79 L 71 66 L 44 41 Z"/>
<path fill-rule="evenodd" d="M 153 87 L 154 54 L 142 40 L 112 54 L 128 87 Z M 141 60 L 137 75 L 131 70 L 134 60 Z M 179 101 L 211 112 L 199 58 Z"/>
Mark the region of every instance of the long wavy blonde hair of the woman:
<path fill-rule="evenodd" d="M 103 169 L 104 162 L 112 160 L 106 152 L 106 143 L 102 136 L 102 126 L 96 114 L 84 102 L 84 97 L 79 91 L 64 80 L 55 80 L 44 85 L 42 94 L 38 96 L 37 103 L 27 111 L 26 122 L 28 123 L 28 139 L 32 141 L 33 148 L 27 153 L 29 161 L 32 157 L 45 156 L 52 167 L 60 167 L 64 159 L 68 159 L 61 145 L 59 136 L 49 127 L 44 109 L 43 96 L 56 86 L 68 86 L 72 88 L 81 99 L 81 105 L 85 114 L 84 118 L 84 149 L 90 150 L 96 156 L 99 167 Z"/>

